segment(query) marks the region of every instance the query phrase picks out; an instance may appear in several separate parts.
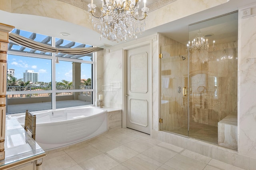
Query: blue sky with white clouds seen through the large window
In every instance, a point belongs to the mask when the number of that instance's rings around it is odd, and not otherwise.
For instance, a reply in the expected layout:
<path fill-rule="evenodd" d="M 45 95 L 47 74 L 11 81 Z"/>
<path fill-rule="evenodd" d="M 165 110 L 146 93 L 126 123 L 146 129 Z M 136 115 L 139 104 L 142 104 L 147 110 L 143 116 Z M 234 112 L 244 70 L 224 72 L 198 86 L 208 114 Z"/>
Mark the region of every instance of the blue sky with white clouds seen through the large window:
<path fill-rule="evenodd" d="M 16 32 L 14 29 L 12 32 Z M 20 30 L 20 35 L 26 38 L 29 38 L 32 33 Z M 47 36 L 36 34 L 35 41 L 41 42 Z M 59 39 L 56 38 L 56 42 Z M 64 40 L 63 46 L 70 43 L 68 40 Z M 80 45 L 81 43 L 76 43 L 74 47 Z M 13 45 L 13 50 L 19 50 L 20 45 Z M 90 45 L 86 45 L 86 47 L 90 47 Z M 24 51 L 30 51 L 31 49 L 24 49 Z M 40 53 L 40 51 L 36 51 L 35 53 Z M 25 54 L 25 53 L 24 53 Z M 51 55 L 51 53 L 47 53 Z M 17 79 L 23 79 L 23 73 L 26 70 L 34 70 L 34 72 L 39 73 L 39 81 L 43 81 L 49 83 L 52 81 L 52 67 L 51 67 L 51 59 L 42 59 L 36 57 L 25 57 L 19 55 L 10 55 L 8 54 L 8 69 L 14 69 L 14 77 Z M 59 58 L 60 59 L 60 58 Z M 80 59 L 90 61 L 90 56 L 81 57 Z M 54 63 L 55 64 L 55 63 Z M 88 79 L 91 78 L 91 64 L 82 63 L 81 64 L 81 79 Z M 56 64 L 56 81 L 72 81 L 72 62 L 70 61 L 61 61 L 59 64 Z"/>

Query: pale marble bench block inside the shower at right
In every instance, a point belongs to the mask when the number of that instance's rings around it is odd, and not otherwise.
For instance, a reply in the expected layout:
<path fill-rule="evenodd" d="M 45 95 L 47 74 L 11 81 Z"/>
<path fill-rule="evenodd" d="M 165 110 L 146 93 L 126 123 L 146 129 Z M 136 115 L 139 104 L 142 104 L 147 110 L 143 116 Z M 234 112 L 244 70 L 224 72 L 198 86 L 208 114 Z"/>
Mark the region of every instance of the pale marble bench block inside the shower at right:
<path fill-rule="evenodd" d="M 218 144 L 237 150 L 237 115 L 228 115 L 218 122 Z"/>

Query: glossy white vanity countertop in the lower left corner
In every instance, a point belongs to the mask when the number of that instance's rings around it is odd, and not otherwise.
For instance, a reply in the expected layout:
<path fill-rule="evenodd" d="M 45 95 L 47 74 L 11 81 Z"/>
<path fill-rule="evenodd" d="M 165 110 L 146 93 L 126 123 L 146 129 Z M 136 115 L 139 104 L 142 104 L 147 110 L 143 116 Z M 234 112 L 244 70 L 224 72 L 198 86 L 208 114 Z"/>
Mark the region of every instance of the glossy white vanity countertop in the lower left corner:
<path fill-rule="evenodd" d="M 44 150 L 28 135 L 16 119 L 6 119 L 5 159 L 0 169 L 31 162 L 46 156 Z"/>

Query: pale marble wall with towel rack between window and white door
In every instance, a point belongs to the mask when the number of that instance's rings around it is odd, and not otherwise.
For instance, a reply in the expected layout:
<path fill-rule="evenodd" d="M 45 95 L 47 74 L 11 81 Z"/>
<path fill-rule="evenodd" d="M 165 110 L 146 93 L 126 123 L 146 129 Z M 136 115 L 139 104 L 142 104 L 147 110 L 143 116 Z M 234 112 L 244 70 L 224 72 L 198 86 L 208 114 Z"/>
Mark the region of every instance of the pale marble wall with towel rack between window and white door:
<path fill-rule="evenodd" d="M 123 51 L 97 52 L 97 98 L 103 95 L 103 106 L 122 109 Z"/>

